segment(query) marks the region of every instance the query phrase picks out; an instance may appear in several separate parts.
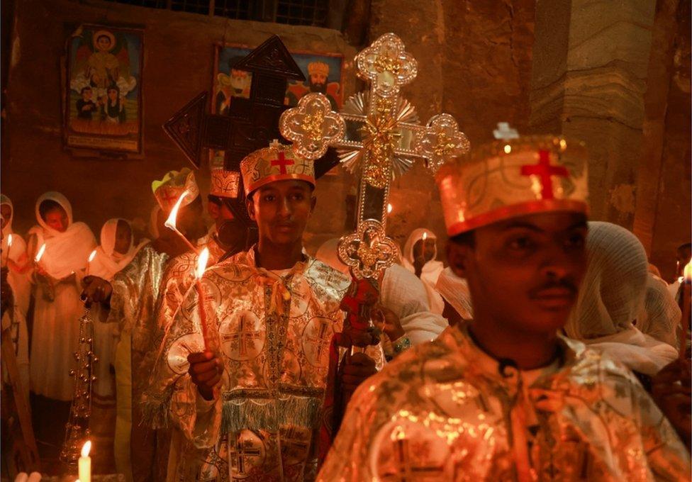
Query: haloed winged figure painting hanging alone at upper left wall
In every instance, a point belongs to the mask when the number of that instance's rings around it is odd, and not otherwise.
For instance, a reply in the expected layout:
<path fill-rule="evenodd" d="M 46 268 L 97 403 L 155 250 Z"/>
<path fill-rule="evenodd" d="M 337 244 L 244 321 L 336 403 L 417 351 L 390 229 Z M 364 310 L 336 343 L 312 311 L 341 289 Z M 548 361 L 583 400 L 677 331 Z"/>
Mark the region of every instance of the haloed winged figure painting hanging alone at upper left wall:
<path fill-rule="evenodd" d="M 144 31 L 82 25 L 67 41 L 67 147 L 140 153 Z"/>

